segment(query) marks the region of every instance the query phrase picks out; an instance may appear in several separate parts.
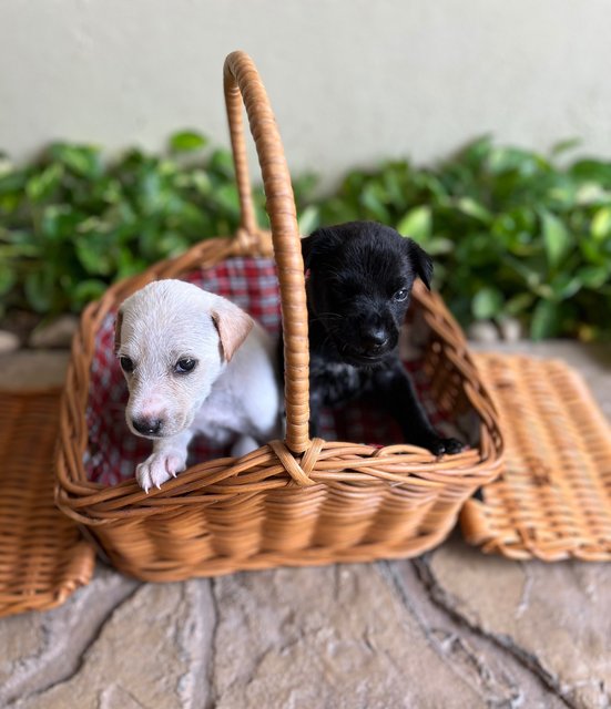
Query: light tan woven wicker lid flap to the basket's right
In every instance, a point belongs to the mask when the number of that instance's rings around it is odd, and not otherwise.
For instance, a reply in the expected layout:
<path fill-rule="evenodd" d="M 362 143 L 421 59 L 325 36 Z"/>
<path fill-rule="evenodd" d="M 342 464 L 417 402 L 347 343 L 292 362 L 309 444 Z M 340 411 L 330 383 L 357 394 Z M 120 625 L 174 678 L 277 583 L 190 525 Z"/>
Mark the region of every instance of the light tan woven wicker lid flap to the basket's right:
<path fill-rule="evenodd" d="M 465 538 L 511 558 L 611 559 L 611 427 L 585 382 L 557 360 L 476 359 L 506 455 L 482 500 L 462 507 Z"/>

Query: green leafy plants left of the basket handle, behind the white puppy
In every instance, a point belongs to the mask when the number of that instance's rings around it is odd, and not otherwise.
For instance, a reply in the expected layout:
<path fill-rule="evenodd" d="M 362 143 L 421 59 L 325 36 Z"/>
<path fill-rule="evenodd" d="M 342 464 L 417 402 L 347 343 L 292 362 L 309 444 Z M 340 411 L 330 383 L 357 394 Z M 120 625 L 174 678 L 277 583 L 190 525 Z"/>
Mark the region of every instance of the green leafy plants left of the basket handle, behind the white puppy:
<path fill-rule="evenodd" d="M 296 194 L 309 184 L 297 181 Z M 264 198 L 255 206 L 265 223 Z M 0 162 L 0 297 L 3 310 L 79 311 L 113 280 L 231 235 L 240 204 L 231 153 L 194 131 L 166 155 L 55 143 L 22 167 Z M 1 312 L 0 312 L 1 315 Z"/>

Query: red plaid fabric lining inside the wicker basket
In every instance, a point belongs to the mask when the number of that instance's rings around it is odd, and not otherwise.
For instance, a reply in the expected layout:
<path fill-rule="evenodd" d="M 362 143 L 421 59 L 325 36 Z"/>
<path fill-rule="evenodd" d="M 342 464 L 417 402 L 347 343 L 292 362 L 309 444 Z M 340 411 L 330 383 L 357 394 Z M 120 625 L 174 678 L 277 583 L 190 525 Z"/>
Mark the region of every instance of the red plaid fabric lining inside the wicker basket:
<path fill-rule="evenodd" d="M 232 258 L 185 277 L 195 284 L 228 298 L 246 310 L 273 336 L 281 326 L 276 267 L 267 258 Z M 110 312 L 95 338 L 91 364 L 91 382 L 86 407 L 89 445 L 84 454 L 88 477 L 104 485 L 114 485 L 133 476 L 135 466 L 151 451 L 151 442 L 131 433 L 125 423 L 128 388 L 114 357 L 114 319 Z M 456 435 L 448 422 L 435 410 L 427 382 L 417 361 L 406 362 L 431 422 L 446 435 Z M 340 411 L 323 412 L 322 434 L 328 440 L 355 441 L 388 445 L 400 443 L 396 423 L 366 403 Z M 224 448 L 211 445 L 203 436 L 190 448 L 190 464 L 227 455 Z"/>

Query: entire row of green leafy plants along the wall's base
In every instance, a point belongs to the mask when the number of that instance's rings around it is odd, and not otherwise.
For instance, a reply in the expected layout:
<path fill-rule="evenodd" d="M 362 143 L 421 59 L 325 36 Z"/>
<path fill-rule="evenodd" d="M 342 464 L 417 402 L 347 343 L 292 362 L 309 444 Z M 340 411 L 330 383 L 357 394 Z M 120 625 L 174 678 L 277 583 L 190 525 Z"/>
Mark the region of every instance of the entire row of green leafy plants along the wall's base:
<path fill-rule="evenodd" d="M 609 339 L 611 162 L 567 163 L 570 147 L 543 156 L 483 137 L 434 168 L 354 169 L 323 197 L 304 176 L 299 226 L 376 219 L 416 238 L 464 325 L 513 317 L 538 339 Z M 261 188 L 255 202 L 266 224 Z M 194 131 L 173 135 L 165 155 L 105 161 L 58 143 L 26 166 L 0 161 L 3 308 L 78 311 L 113 280 L 237 223 L 231 154 Z"/>

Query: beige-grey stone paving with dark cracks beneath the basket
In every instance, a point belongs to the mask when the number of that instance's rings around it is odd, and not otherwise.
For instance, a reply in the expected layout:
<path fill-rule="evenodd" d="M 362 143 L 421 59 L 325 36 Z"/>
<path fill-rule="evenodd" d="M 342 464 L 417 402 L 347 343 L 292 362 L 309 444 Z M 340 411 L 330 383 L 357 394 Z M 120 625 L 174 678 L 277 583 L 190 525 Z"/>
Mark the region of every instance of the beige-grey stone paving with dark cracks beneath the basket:
<path fill-rule="evenodd" d="M 611 348 L 493 347 L 564 359 L 611 418 Z M 4 356 L 0 386 L 64 366 Z M 99 564 L 62 607 L 0 619 L 0 707 L 602 709 L 610 608 L 611 564 L 511 562 L 458 533 L 414 561 L 175 584 Z"/>

